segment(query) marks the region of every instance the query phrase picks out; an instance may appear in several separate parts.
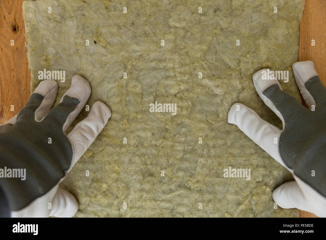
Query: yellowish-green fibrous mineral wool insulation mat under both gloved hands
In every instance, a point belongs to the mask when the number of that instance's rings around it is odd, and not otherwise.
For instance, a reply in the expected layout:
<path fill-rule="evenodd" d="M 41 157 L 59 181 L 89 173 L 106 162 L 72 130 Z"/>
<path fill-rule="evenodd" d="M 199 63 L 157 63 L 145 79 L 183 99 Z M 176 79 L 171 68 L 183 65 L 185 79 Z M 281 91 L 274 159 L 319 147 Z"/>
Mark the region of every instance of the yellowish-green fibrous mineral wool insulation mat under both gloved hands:
<path fill-rule="evenodd" d="M 78 200 L 76 216 L 298 216 L 272 199 L 291 174 L 227 114 L 240 102 L 281 127 L 252 83 L 262 68 L 289 71 L 281 85 L 301 101 L 291 66 L 303 8 L 303 0 L 25 1 L 31 90 L 38 71 L 66 71 L 57 104 L 79 74 L 92 88 L 87 105 L 112 111 L 60 184 Z M 150 112 L 155 102 L 176 104 L 176 114 Z M 250 168 L 250 180 L 224 178 L 230 167 Z"/>

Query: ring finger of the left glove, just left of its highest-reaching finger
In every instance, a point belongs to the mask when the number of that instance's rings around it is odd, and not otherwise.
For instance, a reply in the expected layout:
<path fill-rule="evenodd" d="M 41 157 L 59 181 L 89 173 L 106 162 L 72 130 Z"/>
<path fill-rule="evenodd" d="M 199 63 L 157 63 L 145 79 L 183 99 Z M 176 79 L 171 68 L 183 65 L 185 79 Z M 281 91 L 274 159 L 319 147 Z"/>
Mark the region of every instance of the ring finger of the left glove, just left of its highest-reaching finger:
<path fill-rule="evenodd" d="M 50 110 L 58 92 L 58 84 L 54 80 L 43 80 L 18 112 L 16 121 L 41 120 Z M 45 101 L 44 101 L 45 100 Z"/>

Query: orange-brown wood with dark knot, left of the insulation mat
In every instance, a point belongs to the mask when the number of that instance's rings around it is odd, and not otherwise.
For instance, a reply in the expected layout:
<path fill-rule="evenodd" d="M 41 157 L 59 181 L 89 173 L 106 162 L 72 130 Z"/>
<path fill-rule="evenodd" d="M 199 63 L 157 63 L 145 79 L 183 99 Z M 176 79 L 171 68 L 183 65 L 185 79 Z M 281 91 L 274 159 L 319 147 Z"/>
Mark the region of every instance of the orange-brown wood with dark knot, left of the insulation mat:
<path fill-rule="evenodd" d="M 30 96 L 22 2 L 0 1 L 0 124 L 15 116 Z M 10 111 L 11 105 L 14 111 Z"/>

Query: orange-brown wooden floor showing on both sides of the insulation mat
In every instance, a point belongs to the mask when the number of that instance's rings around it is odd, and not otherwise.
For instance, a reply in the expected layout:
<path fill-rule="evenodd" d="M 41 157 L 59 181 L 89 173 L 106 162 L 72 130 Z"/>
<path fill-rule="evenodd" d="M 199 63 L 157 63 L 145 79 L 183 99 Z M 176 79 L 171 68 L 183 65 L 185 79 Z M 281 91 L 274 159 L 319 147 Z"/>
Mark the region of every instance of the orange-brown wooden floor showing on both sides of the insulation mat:
<path fill-rule="evenodd" d="M 30 96 L 23 0 L 0 1 L 0 124 L 15 116 Z M 14 46 L 10 41 L 14 40 Z M 311 46 L 315 40 L 315 46 Z M 299 61 L 311 60 L 326 85 L 326 1 L 306 0 L 300 23 Z M 14 111 L 10 106 L 14 105 Z M 315 215 L 299 211 L 301 217 Z"/>

